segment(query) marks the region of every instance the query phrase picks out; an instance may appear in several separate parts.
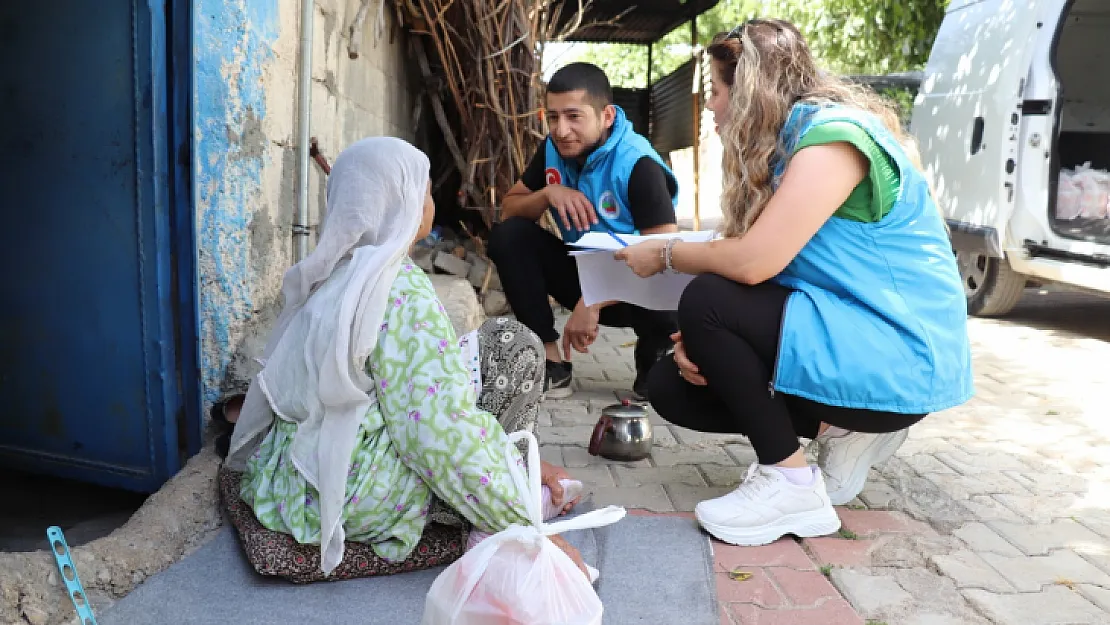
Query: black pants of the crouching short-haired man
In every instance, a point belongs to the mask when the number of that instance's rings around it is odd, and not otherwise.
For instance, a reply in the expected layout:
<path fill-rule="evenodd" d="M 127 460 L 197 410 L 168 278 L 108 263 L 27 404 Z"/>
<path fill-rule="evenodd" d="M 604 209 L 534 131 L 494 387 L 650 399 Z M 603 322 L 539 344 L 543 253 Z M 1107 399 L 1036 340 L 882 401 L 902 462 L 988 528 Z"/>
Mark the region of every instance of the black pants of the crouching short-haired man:
<path fill-rule="evenodd" d="M 525 218 L 508 218 L 490 233 L 490 259 L 497 265 L 505 298 L 516 319 L 544 343 L 554 343 L 559 337 L 547 296 L 569 310 L 582 299 L 578 265 L 567 252 L 558 236 Z M 610 327 L 633 329 L 639 339 L 637 371 L 649 367 L 656 352 L 670 346 L 670 334 L 678 329 L 674 312 L 625 303 L 602 309 L 599 321 Z"/>

